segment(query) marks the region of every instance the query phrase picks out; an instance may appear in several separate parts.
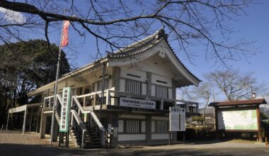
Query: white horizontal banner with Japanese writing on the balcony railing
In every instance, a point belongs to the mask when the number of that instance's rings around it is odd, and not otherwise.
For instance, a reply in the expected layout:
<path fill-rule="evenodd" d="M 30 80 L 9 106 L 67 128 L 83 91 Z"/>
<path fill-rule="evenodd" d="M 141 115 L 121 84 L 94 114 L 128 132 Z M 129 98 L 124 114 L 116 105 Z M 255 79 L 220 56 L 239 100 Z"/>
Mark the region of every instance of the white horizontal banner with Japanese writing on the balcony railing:
<path fill-rule="evenodd" d="M 156 102 L 120 97 L 120 106 L 155 109 Z"/>

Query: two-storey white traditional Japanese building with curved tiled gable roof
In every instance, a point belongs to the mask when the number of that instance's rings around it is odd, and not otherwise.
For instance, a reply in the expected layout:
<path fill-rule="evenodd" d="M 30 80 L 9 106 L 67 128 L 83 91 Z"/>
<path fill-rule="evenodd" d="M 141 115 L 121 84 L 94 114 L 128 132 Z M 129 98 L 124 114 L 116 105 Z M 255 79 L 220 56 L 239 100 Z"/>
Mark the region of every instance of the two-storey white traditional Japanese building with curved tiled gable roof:
<path fill-rule="evenodd" d="M 168 108 L 177 104 L 176 88 L 199 83 L 171 49 L 164 30 L 159 30 L 59 79 L 54 140 L 63 87 L 71 87 L 70 138 L 80 147 L 94 147 L 105 143 L 108 124 L 115 144 L 167 143 Z M 42 96 L 40 138 L 50 131 L 54 88 L 52 82 L 28 94 Z M 181 101 L 181 106 L 187 113 L 198 113 L 198 105 L 189 109 Z"/>

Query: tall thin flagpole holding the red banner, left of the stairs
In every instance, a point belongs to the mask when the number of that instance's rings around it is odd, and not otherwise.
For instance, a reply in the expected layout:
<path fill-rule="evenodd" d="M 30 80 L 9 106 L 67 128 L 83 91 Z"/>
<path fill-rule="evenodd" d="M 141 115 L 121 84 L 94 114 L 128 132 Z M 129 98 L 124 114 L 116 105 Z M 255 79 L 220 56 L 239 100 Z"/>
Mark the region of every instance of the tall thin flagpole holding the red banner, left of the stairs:
<path fill-rule="evenodd" d="M 65 12 L 64 12 L 65 14 Z M 62 31 L 64 28 L 64 22 L 62 22 Z M 61 32 L 61 40 L 59 43 L 59 55 L 57 59 L 57 72 L 56 72 L 56 80 L 55 80 L 55 95 L 54 95 L 54 101 L 53 101 L 53 109 L 52 109 L 52 126 L 50 128 L 50 145 L 52 145 L 52 140 L 53 140 L 53 130 L 55 127 L 55 107 L 56 107 L 56 102 L 57 102 L 57 84 L 58 84 L 58 79 L 59 79 L 59 65 L 60 65 L 60 60 L 61 60 L 61 44 L 62 44 L 62 32 Z"/>

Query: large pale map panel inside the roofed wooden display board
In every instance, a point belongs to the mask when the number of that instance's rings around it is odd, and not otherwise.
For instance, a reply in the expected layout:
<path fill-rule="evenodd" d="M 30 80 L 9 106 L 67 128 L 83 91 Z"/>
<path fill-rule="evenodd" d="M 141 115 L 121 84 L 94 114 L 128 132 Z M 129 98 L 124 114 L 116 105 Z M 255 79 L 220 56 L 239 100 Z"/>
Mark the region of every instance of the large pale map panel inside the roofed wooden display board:
<path fill-rule="evenodd" d="M 218 111 L 220 130 L 258 130 L 256 110 Z"/>

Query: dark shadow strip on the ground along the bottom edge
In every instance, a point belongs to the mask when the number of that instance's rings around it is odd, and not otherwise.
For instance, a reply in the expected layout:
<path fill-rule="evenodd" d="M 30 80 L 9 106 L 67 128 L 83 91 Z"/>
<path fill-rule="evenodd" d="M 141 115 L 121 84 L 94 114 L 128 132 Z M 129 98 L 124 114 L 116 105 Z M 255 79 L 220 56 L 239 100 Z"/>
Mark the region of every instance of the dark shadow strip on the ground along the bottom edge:
<path fill-rule="evenodd" d="M 1 156 L 4 155 L 268 155 L 266 149 L 247 148 L 218 148 L 218 149 L 144 149 L 144 148 L 122 148 L 122 149 L 76 149 L 52 147 L 48 145 L 18 145 L 0 144 Z"/>

